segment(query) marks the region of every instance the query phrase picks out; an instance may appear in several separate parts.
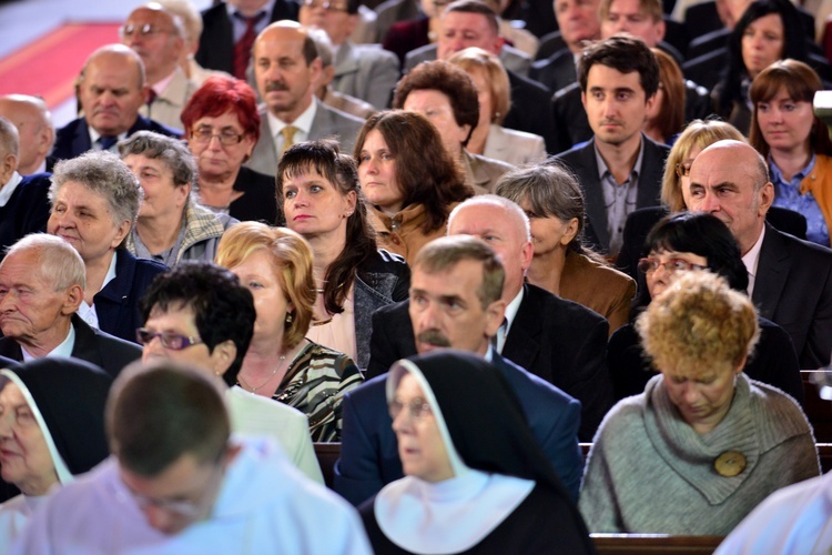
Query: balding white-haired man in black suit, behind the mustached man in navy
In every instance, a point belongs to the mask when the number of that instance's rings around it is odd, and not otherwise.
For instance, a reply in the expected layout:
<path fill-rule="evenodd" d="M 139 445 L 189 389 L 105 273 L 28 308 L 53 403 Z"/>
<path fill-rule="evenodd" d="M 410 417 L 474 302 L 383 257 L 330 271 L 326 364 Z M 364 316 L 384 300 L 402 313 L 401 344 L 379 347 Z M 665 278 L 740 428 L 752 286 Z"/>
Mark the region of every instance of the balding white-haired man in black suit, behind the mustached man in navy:
<path fill-rule="evenodd" d="M 609 324 L 591 310 L 524 283 L 534 248 L 528 218 L 509 201 L 493 194 L 459 204 L 448 220 L 448 234 L 468 234 L 488 242 L 503 259 L 506 321 L 496 334 L 496 351 L 581 402 L 578 436 L 591 442 L 612 406 L 607 372 Z M 413 282 L 412 282 L 413 283 Z M 415 352 L 413 330 L 400 313 L 384 307 L 373 317 L 367 376 Z"/>

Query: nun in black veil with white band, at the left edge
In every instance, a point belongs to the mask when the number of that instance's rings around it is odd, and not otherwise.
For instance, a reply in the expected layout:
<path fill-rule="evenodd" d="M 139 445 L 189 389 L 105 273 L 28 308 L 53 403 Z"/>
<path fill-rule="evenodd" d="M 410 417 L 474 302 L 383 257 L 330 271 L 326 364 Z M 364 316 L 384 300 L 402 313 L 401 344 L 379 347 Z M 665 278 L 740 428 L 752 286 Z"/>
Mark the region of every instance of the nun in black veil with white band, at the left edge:
<path fill-rule="evenodd" d="M 103 370 L 75 359 L 0 370 L 0 475 L 22 492 L 0 505 L 0 553 L 9 552 L 49 493 L 109 455 L 111 384 Z"/>

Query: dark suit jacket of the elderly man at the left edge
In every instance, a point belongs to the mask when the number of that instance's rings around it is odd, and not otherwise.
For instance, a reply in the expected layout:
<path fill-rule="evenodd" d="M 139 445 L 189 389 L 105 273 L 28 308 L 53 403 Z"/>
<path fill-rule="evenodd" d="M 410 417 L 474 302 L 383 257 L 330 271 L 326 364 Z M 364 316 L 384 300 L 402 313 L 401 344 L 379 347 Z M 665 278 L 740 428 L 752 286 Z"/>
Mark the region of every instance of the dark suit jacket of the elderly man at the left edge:
<path fill-rule="evenodd" d="M 116 377 L 124 366 L 142 356 L 142 349 L 135 343 L 90 327 L 78 314 L 72 314 L 72 327 L 75 329 L 72 357 L 104 369 L 113 377 Z M 23 352 L 11 337 L 0 337 L 0 356 L 23 362 Z"/>

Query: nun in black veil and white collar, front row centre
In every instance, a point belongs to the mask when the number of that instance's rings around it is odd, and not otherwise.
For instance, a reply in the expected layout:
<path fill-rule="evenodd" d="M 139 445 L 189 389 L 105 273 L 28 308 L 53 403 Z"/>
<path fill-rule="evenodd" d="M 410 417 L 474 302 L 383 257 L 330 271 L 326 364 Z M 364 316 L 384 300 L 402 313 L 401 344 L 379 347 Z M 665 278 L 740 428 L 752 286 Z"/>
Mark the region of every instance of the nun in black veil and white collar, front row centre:
<path fill-rule="evenodd" d="M 387 402 L 406 475 L 359 507 L 376 554 L 595 553 L 490 363 L 451 350 L 398 361 Z"/>

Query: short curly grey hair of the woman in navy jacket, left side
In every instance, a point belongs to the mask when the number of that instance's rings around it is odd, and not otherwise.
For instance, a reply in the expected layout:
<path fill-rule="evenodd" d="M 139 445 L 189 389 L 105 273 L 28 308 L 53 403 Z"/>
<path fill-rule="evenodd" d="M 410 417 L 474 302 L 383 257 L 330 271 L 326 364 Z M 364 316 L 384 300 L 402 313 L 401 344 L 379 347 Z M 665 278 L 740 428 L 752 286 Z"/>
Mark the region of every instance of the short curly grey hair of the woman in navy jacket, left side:
<path fill-rule="evenodd" d="M 142 188 L 130 168 L 112 152 L 93 150 L 58 162 L 49 188 L 49 202 L 52 206 L 58 191 L 69 181 L 81 183 L 102 195 L 110 206 L 115 225 L 125 220 L 131 226 L 135 224 L 143 196 Z"/>

